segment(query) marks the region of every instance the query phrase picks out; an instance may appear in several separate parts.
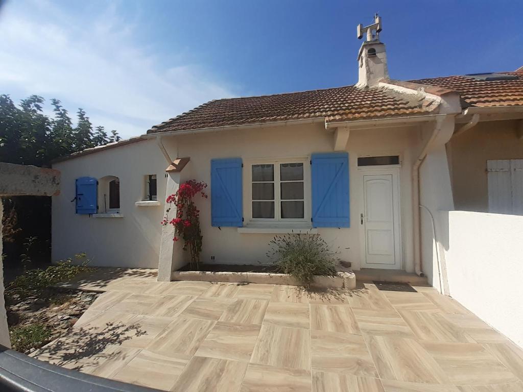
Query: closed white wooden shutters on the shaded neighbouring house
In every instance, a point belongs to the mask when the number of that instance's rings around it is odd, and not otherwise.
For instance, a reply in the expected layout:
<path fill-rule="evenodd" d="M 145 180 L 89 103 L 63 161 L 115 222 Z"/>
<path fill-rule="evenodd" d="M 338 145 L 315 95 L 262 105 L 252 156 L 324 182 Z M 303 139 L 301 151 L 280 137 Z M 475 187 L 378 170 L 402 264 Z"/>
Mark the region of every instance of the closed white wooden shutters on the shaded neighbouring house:
<path fill-rule="evenodd" d="M 523 159 L 487 160 L 488 212 L 523 215 Z"/>

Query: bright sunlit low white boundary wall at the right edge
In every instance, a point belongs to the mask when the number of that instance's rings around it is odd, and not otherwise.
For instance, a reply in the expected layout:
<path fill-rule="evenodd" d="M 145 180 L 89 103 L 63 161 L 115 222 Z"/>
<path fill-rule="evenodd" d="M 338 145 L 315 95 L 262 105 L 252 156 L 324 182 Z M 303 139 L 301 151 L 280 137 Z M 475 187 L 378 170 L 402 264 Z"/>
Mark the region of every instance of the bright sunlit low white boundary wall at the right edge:
<path fill-rule="evenodd" d="M 450 295 L 523 347 L 523 216 L 441 214 Z"/>

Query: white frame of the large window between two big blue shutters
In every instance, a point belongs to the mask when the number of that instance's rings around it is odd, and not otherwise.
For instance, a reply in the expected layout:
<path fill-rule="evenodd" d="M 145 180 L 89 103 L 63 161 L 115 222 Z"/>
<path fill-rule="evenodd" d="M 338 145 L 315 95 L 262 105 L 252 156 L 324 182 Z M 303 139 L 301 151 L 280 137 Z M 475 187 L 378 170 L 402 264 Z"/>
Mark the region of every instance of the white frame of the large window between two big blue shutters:
<path fill-rule="evenodd" d="M 311 225 L 311 165 L 310 157 L 252 158 L 244 160 L 244 212 L 247 226 L 282 226 Z M 303 218 L 281 218 L 280 164 L 303 164 Z M 252 165 L 274 165 L 274 218 L 253 218 L 252 205 Z M 291 181 L 283 181 L 291 182 Z M 301 181 L 296 181 L 301 182 Z M 283 200 L 287 201 L 287 200 Z M 288 200 L 292 201 L 292 200 Z"/>

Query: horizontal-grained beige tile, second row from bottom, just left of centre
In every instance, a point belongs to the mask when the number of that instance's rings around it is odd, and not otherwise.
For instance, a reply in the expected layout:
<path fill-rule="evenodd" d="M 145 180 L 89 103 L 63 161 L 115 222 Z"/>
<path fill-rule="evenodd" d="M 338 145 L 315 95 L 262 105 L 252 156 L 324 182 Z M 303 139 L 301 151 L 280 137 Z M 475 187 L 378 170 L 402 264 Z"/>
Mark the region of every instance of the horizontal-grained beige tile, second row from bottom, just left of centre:
<path fill-rule="evenodd" d="M 219 321 L 195 355 L 249 362 L 261 326 Z"/>

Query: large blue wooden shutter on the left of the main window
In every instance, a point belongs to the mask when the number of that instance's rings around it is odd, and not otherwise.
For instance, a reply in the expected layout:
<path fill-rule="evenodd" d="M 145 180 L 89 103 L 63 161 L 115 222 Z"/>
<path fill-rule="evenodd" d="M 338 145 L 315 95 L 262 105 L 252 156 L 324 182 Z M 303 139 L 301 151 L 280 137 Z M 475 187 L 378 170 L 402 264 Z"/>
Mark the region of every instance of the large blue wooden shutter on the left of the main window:
<path fill-rule="evenodd" d="M 243 226 L 242 158 L 211 159 L 211 224 Z"/>

